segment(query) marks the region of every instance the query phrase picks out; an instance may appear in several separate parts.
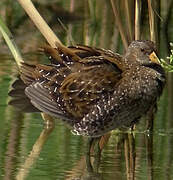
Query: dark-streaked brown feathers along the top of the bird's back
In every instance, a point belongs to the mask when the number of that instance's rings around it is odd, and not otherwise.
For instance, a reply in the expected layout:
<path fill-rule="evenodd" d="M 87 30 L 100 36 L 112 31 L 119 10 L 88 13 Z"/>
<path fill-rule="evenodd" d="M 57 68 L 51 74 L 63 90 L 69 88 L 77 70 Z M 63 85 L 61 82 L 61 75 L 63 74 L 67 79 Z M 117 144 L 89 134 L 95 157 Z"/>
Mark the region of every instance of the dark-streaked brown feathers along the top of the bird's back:
<path fill-rule="evenodd" d="M 73 62 L 91 63 L 96 61 L 100 62 L 100 59 L 93 59 L 94 56 L 103 57 L 107 62 L 116 64 L 123 68 L 122 56 L 118 53 L 113 53 L 110 50 L 101 48 L 95 48 L 85 45 L 69 46 L 65 47 L 57 44 L 57 48 L 50 46 L 43 47 L 43 51 L 47 54 L 52 64 L 70 64 Z M 101 62 L 103 62 L 103 59 Z"/>

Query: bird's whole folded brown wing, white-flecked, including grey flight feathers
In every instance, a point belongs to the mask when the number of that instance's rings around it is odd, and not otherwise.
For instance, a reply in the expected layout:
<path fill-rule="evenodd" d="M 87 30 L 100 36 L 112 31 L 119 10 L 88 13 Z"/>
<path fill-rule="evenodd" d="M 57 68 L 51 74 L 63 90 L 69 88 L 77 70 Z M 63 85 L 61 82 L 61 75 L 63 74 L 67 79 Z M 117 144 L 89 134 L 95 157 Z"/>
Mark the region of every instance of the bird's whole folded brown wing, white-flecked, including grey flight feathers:
<path fill-rule="evenodd" d="M 45 47 L 51 65 L 23 64 L 25 93 L 40 111 L 79 121 L 121 79 L 121 57 L 87 46 Z M 106 54 L 107 53 L 107 54 Z M 120 58 L 113 63 L 115 57 Z"/>

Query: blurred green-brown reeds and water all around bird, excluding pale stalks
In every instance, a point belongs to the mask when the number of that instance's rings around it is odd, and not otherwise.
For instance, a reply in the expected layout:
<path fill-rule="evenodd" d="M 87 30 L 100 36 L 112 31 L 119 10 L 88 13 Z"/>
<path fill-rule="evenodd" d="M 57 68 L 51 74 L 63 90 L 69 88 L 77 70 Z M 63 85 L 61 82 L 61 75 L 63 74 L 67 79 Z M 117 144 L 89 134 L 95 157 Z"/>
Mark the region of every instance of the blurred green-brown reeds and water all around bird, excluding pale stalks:
<path fill-rule="evenodd" d="M 114 0 L 129 43 L 135 36 L 135 1 Z M 140 39 L 150 39 L 149 9 L 142 0 Z M 155 0 L 155 37 L 160 58 L 170 54 L 173 42 L 173 0 Z M 124 53 L 109 0 L 33 0 L 35 7 L 65 45 L 85 44 Z M 129 16 L 130 14 L 130 16 Z M 1 0 L 0 15 L 9 27 L 24 59 L 48 62 L 38 53 L 46 43 L 18 1 Z M 8 91 L 18 75 L 16 63 L 0 36 L 0 179 L 27 180 L 171 180 L 173 179 L 173 76 L 158 103 L 152 132 L 144 118 L 133 133 L 112 131 L 93 169 L 85 163 L 86 139 L 75 136 L 61 121 L 46 132 L 40 114 L 22 113 L 8 105 Z M 34 146 L 34 144 L 36 146 Z M 40 146 L 39 146 L 39 145 Z M 40 147 L 38 148 L 37 145 Z M 32 149 L 38 152 L 33 157 Z"/>

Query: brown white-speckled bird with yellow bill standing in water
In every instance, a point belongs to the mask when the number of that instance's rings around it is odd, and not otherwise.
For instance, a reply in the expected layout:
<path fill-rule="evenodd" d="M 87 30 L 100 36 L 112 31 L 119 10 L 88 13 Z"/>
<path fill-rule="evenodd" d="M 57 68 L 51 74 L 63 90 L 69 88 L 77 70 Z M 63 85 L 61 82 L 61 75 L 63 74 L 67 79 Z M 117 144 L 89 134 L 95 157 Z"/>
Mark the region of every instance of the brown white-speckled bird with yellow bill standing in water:
<path fill-rule="evenodd" d="M 43 51 L 49 65 L 22 64 L 25 94 L 78 135 L 98 137 L 132 126 L 157 103 L 165 84 L 151 41 L 133 41 L 123 56 L 83 45 Z"/>

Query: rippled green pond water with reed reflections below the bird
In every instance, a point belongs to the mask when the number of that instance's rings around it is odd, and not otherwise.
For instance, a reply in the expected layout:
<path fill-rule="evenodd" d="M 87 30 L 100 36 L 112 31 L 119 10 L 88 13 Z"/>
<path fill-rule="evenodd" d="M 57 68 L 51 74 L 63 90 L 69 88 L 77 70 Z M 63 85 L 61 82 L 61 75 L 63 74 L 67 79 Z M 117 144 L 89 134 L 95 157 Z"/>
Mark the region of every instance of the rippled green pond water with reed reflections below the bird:
<path fill-rule="evenodd" d="M 46 129 L 39 113 L 23 114 L 7 105 L 15 64 L 0 63 L 1 126 L 0 179 L 172 179 L 173 126 L 167 113 L 165 90 L 152 133 L 143 119 L 133 132 L 113 131 L 99 158 L 86 164 L 86 138 L 75 136 L 61 121 Z M 8 64 L 8 67 L 6 65 Z M 3 70 L 5 68 L 5 70 Z"/>

